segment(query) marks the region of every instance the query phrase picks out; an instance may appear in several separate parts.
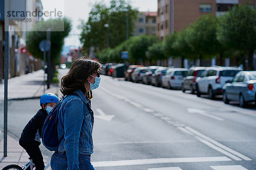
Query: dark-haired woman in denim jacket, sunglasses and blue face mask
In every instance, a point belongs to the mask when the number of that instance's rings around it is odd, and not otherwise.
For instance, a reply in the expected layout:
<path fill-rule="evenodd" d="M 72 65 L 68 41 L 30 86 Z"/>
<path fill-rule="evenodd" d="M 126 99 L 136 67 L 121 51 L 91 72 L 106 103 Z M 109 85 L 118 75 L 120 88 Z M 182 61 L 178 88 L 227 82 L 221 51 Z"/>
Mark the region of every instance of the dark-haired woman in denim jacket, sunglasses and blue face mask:
<path fill-rule="evenodd" d="M 93 153 L 92 90 L 99 87 L 101 65 L 81 57 L 61 79 L 63 102 L 59 111 L 58 138 L 64 139 L 51 157 L 52 170 L 95 170 L 90 163 Z"/>

